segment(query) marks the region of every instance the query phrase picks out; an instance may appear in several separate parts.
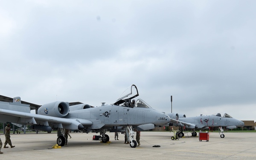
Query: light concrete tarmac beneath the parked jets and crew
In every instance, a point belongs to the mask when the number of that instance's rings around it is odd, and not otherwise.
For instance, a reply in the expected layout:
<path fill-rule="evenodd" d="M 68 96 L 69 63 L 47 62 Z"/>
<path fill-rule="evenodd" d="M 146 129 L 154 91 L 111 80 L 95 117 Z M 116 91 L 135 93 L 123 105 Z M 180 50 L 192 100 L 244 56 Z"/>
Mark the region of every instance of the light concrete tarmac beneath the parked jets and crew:
<path fill-rule="evenodd" d="M 96 133 L 70 133 L 67 145 L 52 148 L 56 144 L 56 133 L 11 134 L 15 148 L 2 148 L 0 160 L 256 160 L 256 133 L 225 132 L 209 133 L 209 141 L 185 134 L 179 140 L 171 140 L 173 132 L 142 131 L 140 146 L 131 148 L 124 144 L 124 135 L 114 140 L 114 133 L 107 133 L 110 143 L 92 140 Z M 0 135 L 4 143 L 5 137 Z M 159 145 L 160 147 L 153 147 Z"/>

